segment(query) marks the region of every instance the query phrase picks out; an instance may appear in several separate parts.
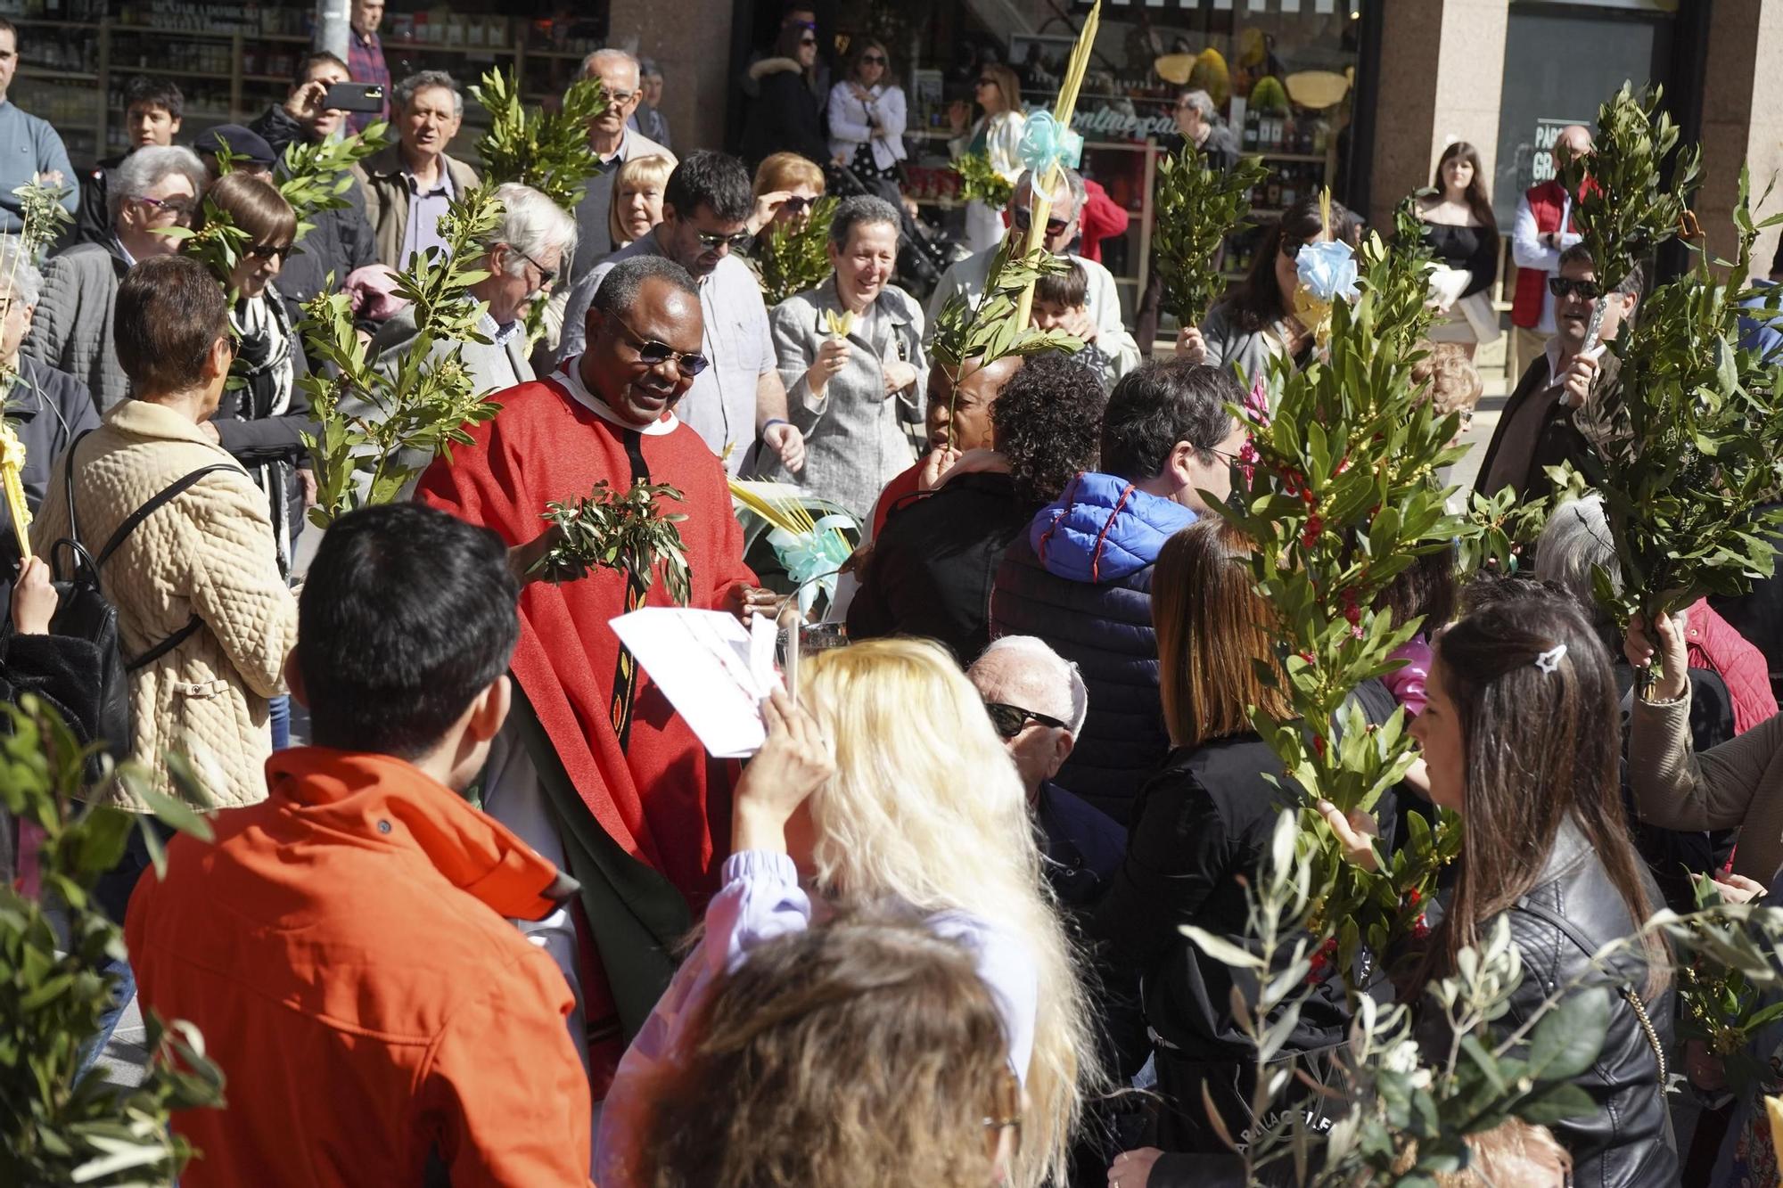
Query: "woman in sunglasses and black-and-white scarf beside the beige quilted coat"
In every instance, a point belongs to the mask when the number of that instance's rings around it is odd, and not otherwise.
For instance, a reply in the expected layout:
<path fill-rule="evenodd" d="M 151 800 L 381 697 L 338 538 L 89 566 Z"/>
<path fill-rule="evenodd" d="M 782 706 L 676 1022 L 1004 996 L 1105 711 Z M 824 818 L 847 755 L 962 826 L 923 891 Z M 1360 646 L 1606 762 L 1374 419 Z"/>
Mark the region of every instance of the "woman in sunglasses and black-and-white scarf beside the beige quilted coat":
<path fill-rule="evenodd" d="M 310 400 L 303 394 L 308 362 L 303 341 L 273 282 L 291 257 L 298 216 L 271 178 L 225 173 L 205 194 L 205 209 L 246 232 L 239 259 L 223 289 L 230 294 L 230 330 L 235 335 L 237 387 L 205 430 L 248 467 L 266 492 L 278 540 L 278 564 L 291 571 L 292 546 L 303 530 L 303 510 L 316 503 L 316 474 L 303 433 L 316 432 Z"/>

